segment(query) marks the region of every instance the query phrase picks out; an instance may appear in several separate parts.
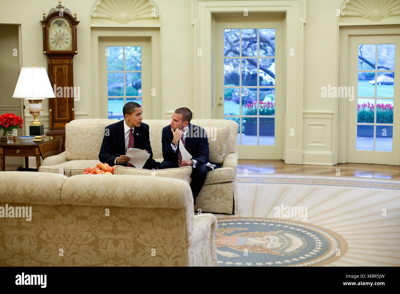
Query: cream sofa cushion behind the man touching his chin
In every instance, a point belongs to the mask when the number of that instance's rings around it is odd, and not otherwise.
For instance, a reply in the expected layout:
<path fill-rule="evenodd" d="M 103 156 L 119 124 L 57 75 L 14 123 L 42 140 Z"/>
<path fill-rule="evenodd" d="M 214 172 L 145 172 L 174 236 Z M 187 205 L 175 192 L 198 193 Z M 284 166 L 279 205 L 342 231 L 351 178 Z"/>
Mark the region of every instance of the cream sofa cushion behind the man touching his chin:
<path fill-rule="evenodd" d="M 226 156 L 226 144 L 228 143 L 229 127 L 204 127 L 210 149 L 210 161 L 222 164 Z"/>

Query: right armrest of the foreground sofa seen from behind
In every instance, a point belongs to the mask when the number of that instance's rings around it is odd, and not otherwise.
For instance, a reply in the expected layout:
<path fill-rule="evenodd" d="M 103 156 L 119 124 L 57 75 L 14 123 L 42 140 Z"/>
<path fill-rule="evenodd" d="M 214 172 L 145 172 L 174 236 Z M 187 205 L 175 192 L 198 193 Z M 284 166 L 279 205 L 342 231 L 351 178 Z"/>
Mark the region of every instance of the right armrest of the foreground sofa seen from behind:
<path fill-rule="evenodd" d="M 217 249 L 215 243 L 215 237 L 218 230 L 216 216 L 211 213 L 195 215 L 193 223 L 192 236 L 188 240 L 188 253 L 189 255 L 195 255 L 196 258 L 194 258 L 195 256 L 189 256 L 189 266 L 218 266 Z M 208 252 L 208 250 L 206 250 L 206 246 L 210 246 L 209 253 L 206 253 Z M 201 254 L 204 256 L 201 257 Z M 191 262 L 193 264 L 190 264 Z"/>

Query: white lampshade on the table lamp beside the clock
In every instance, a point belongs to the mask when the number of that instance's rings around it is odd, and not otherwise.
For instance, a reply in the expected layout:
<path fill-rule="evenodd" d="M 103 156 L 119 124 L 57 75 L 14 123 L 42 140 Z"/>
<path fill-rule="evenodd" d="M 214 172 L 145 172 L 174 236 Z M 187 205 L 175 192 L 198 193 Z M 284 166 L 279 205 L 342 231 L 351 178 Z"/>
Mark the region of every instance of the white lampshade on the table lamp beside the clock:
<path fill-rule="evenodd" d="M 46 68 L 23 67 L 12 97 L 30 100 L 56 97 L 54 96 Z"/>

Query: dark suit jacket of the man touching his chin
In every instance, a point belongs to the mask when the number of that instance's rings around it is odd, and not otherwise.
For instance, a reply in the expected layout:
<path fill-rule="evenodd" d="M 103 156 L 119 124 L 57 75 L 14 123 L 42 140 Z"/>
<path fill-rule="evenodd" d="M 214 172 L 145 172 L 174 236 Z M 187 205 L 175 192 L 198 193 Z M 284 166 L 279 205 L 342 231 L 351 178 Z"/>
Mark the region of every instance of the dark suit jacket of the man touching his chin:
<path fill-rule="evenodd" d="M 171 132 L 171 125 L 162 129 L 162 156 L 165 161 L 178 162 L 178 150 L 176 153 L 172 150 L 171 142 L 174 136 Z M 198 160 L 198 165 L 207 164 L 210 160 L 210 150 L 208 148 L 208 140 L 204 128 L 189 124 L 188 132 L 185 140 L 185 148 L 188 150 L 192 159 Z"/>

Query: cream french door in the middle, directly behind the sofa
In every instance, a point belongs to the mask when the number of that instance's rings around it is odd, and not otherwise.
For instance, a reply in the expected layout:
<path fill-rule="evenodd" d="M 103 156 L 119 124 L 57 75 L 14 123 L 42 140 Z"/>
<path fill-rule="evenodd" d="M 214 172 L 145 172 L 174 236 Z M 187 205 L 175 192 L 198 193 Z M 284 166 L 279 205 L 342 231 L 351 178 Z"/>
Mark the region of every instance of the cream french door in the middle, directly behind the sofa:
<path fill-rule="evenodd" d="M 217 19 L 214 107 L 238 123 L 240 158 L 282 159 L 283 38 L 281 17 Z"/>

